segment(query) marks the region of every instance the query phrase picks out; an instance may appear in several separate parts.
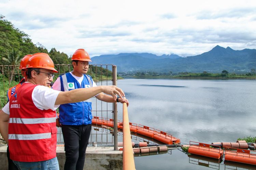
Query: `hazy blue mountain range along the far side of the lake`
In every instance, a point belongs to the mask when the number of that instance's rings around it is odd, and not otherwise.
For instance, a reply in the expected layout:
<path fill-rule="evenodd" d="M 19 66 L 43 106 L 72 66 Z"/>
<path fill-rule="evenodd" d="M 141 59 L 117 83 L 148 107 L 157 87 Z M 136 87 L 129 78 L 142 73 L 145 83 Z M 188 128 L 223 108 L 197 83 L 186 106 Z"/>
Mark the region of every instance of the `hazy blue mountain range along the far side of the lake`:
<path fill-rule="evenodd" d="M 243 73 L 256 69 L 256 50 L 233 50 L 216 46 L 200 55 L 180 57 L 176 54 L 157 56 L 151 53 L 120 53 L 92 57 L 90 64 L 114 64 L 117 72 L 211 72 L 222 70 Z"/>

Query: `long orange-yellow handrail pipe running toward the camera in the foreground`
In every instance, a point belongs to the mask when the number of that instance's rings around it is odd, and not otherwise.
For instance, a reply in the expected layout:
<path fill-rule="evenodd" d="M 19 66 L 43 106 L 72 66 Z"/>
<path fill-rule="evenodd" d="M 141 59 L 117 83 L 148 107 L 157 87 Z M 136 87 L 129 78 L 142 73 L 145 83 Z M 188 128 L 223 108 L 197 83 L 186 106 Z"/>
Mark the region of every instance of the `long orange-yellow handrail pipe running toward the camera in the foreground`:
<path fill-rule="evenodd" d="M 123 170 L 135 170 L 127 104 L 123 103 Z"/>

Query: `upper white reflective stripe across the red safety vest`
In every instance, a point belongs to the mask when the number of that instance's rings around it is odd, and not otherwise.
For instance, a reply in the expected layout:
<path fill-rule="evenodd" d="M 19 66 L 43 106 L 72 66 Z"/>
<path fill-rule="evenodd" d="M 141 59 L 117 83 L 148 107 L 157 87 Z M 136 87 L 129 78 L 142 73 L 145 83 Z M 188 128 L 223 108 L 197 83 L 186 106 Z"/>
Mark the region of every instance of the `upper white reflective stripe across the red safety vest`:
<path fill-rule="evenodd" d="M 9 123 L 22 123 L 22 124 L 38 124 L 38 123 L 54 123 L 56 117 L 51 118 L 10 118 Z"/>

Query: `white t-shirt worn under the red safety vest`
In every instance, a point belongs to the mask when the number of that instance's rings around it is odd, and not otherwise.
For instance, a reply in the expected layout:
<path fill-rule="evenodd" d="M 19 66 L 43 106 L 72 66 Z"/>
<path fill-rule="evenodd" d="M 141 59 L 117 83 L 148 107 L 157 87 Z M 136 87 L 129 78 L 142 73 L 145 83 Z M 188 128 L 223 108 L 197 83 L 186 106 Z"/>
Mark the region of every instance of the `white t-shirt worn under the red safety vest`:
<path fill-rule="evenodd" d="M 40 110 L 51 109 L 55 111 L 59 107 L 59 105 L 54 105 L 59 93 L 60 91 L 58 90 L 39 85 L 33 89 L 32 100 L 34 105 Z M 10 115 L 9 102 L 2 108 L 2 111 Z"/>

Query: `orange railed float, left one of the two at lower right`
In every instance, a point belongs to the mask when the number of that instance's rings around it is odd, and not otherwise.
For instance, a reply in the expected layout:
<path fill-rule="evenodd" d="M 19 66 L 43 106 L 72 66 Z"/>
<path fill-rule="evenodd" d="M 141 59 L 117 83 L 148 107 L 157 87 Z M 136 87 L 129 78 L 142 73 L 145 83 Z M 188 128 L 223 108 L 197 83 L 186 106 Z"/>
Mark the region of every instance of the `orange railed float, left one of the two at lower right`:
<path fill-rule="evenodd" d="M 195 144 L 193 145 L 191 143 L 196 143 L 196 145 Z M 210 157 L 210 158 L 214 158 L 214 159 L 223 158 L 223 150 L 221 149 L 220 146 L 215 146 L 218 149 L 211 148 L 210 146 L 212 146 L 212 145 L 207 144 L 207 143 L 199 143 L 199 142 L 190 141 L 188 153 L 206 156 L 206 157 Z"/>

